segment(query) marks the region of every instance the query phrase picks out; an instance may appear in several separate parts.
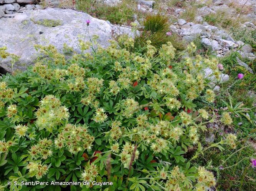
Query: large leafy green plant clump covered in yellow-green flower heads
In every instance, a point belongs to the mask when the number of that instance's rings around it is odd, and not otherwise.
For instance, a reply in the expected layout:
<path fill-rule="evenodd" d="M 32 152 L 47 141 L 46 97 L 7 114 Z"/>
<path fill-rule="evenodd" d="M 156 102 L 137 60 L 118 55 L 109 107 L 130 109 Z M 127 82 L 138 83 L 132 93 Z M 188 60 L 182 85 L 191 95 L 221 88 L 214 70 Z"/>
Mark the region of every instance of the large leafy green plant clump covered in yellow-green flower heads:
<path fill-rule="evenodd" d="M 87 181 L 71 189 L 138 191 L 216 185 L 215 168 L 193 162 L 210 147 L 236 148 L 235 134 L 210 146 L 200 142 L 207 123 L 232 123 L 232 113 L 216 117 L 196 104 L 215 100 L 204 72 L 211 68 L 219 78 L 217 60 L 197 55 L 177 62 L 170 42 L 156 49 L 147 41 L 141 54 L 130 51 L 133 39 L 120 40 L 123 48 L 111 41 L 68 60 L 51 45 L 36 45 L 45 56 L 23 73 L 0 78 L 2 183 Z M 195 50 L 192 43 L 186 51 Z M 94 180 L 113 184 L 95 186 Z"/>

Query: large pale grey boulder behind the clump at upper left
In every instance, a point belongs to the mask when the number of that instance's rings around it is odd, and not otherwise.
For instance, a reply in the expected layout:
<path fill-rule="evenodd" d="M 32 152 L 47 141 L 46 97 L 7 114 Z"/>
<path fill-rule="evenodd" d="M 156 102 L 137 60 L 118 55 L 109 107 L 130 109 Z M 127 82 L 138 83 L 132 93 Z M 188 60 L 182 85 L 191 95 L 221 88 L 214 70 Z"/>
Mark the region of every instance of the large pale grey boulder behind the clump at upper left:
<path fill-rule="evenodd" d="M 61 24 L 55 27 L 38 24 L 40 21 L 54 20 Z M 80 52 L 78 40 L 84 39 L 86 20 L 90 19 L 90 36 L 99 36 L 102 47 L 109 45 L 111 26 L 106 21 L 92 18 L 90 15 L 71 9 L 47 8 L 45 10 L 25 10 L 12 14 L 12 18 L 0 18 L 0 45 L 6 46 L 9 53 L 20 56 L 14 70 L 25 70 L 36 58 L 35 44 L 53 44 L 59 51 L 63 44 Z M 15 31 L 15 32 L 14 32 Z M 85 40 L 89 40 L 88 33 Z M 0 66 L 11 71 L 10 60 L 0 60 Z"/>

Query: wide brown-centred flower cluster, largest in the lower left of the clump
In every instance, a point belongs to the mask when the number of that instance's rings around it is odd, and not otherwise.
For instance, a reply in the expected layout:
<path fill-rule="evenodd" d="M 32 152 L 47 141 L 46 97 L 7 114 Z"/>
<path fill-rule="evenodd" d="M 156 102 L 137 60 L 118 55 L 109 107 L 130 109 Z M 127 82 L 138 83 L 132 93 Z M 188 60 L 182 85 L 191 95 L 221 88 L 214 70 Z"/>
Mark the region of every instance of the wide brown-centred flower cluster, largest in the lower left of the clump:
<path fill-rule="evenodd" d="M 76 154 L 83 152 L 84 149 L 91 150 L 92 142 L 94 142 L 94 137 L 89 134 L 86 125 L 67 124 L 58 134 L 58 138 L 55 139 L 54 143 L 55 147 L 59 149 L 66 147 L 69 152 Z"/>

